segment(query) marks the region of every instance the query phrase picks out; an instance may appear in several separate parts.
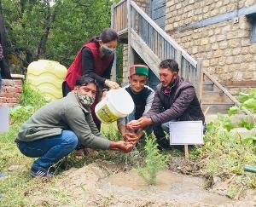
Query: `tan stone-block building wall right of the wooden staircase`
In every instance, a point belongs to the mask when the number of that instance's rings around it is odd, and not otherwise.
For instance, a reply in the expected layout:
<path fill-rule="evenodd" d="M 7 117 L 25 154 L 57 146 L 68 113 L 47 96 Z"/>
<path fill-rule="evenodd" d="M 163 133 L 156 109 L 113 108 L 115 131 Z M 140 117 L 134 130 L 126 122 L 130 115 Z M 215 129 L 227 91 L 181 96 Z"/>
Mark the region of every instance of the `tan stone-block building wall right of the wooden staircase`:
<path fill-rule="evenodd" d="M 203 58 L 203 68 L 219 82 L 256 80 L 256 44 L 251 43 L 251 23 L 245 15 L 189 28 L 199 20 L 255 3 L 256 0 L 167 0 L 165 30 L 195 59 Z M 237 92 L 234 89 L 233 94 Z"/>

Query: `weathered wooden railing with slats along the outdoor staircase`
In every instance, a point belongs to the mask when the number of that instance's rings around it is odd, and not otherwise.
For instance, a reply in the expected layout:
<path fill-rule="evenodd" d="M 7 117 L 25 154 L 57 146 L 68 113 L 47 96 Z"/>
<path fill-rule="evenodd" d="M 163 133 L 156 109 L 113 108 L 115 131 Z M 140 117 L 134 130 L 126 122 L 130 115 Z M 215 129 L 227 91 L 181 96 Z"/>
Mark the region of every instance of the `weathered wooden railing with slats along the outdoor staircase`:
<path fill-rule="evenodd" d="M 236 106 L 239 101 L 227 89 L 218 83 L 207 71 L 201 70 L 202 59 L 195 60 L 172 37 L 170 37 L 143 9 L 131 0 L 122 0 L 112 7 L 112 27 L 119 34 L 128 32 L 128 46 L 131 47 L 131 34 L 137 34 L 148 48 L 157 56 L 157 60 L 174 59 L 180 68 L 180 76 L 194 84 L 199 100 L 202 96 L 203 74 L 207 76 L 218 89 L 221 89 Z M 134 36 L 134 35 L 133 35 Z M 128 59 L 129 59 L 128 47 Z M 130 50 L 131 51 L 131 50 Z M 141 54 L 138 54 L 141 55 Z M 143 56 L 143 55 L 142 55 Z M 152 57 L 152 56 L 151 56 Z M 150 66 L 149 66 L 150 67 Z M 248 112 L 246 112 L 249 114 Z"/>

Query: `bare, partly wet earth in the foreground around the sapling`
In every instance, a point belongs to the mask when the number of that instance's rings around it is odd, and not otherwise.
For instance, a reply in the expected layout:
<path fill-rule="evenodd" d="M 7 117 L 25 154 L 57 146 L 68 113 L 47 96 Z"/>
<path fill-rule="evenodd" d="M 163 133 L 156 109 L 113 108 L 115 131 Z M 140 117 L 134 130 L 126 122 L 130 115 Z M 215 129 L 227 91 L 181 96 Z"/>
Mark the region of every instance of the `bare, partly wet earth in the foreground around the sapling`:
<path fill-rule="evenodd" d="M 256 191 L 233 201 L 204 189 L 204 180 L 161 171 L 155 186 L 148 186 L 135 170 L 115 164 L 94 163 L 70 169 L 61 177 L 27 189 L 31 206 L 256 206 Z"/>

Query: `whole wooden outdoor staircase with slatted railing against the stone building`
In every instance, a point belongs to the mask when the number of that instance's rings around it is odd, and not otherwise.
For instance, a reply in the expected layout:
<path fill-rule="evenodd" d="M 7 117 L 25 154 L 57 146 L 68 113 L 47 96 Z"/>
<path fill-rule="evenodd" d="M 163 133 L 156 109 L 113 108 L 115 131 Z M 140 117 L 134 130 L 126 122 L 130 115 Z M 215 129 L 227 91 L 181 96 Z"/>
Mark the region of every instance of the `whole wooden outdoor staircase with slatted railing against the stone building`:
<path fill-rule="evenodd" d="M 204 112 L 226 113 L 230 106 L 239 106 L 236 97 L 224 88 L 206 70 L 202 59 L 195 60 L 170 37 L 148 14 L 131 0 L 122 0 L 112 6 L 112 27 L 122 43 L 128 43 L 128 65 L 134 64 L 134 55 L 140 58 L 159 77 L 160 60 L 177 61 L 179 75 L 194 84 Z"/>

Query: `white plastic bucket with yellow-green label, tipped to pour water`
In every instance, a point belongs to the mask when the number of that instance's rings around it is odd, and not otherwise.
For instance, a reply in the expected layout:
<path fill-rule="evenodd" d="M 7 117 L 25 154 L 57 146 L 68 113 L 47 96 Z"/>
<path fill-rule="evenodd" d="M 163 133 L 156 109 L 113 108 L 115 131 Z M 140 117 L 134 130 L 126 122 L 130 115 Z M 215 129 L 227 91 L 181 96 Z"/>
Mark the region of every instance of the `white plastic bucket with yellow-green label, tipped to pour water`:
<path fill-rule="evenodd" d="M 131 95 L 122 88 L 109 90 L 106 97 L 95 107 L 96 117 L 105 124 L 125 118 L 133 110 L 134 102 Z"/>

